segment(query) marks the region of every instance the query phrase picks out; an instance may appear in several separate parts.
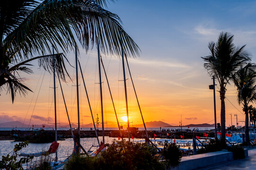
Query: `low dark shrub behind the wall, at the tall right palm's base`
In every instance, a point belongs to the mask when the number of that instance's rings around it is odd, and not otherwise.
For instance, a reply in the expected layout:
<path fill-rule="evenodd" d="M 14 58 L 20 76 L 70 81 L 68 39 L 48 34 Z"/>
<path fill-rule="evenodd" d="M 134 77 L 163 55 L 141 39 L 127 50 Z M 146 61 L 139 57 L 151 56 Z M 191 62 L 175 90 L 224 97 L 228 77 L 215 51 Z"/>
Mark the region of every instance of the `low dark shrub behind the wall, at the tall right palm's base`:
<path fill-rule="evenodd" d="M 197 151 L 198 154 L 200 153 L 210 153 L 210 152 L 217 152 L 225 149 L 227 147 L 226 144 L 222 144 L 219 139 L 210 139 L 209 144 L 205 144 L 204 147 Z"/>

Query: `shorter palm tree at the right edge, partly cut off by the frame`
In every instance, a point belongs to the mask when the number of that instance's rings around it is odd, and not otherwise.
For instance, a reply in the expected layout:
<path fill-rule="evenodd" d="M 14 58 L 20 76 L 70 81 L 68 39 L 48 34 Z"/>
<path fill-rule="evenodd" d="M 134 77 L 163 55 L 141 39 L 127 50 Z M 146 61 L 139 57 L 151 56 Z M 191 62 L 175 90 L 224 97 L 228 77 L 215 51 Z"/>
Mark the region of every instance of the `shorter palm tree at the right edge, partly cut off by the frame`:
<path fill-rule="evenodd" d="M 238 91 L 238 103 L 243 104 L 243 111 L 245 112 L 245 142 L 249 144 L 248 104 L 256 102 L 256 65 L 249 63 L 238 70 L 233 76 L 233 81 Z"/>

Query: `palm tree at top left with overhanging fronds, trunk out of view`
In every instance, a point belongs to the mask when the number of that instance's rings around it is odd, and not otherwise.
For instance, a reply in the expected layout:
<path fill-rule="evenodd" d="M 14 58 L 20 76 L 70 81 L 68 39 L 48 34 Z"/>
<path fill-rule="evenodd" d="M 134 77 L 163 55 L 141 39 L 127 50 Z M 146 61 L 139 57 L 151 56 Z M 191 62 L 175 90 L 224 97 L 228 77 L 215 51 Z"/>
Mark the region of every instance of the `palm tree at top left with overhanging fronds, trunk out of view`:
<path fill-rule="evenodd" d="M 113 1 L 113 0 L 110 0 Z M 139 47 L 125 33 L 121 20 L 106 9 L 108 0 L 1 0 L 0 1 L 0 91 L 26 94 L 19 71 L 32 73 L 29 61 L 57 73 L 65 80 L 64 53 L 78 46 L 87 51 L 96 37 L 103 52 L 139 54 Z M 55 55 L 51 54 L 52 47 Z M 49 54 L 50 55 L 47 55 Z M 38 55 L 39 57 L 35 57 Z M 5 86 L 7 88 L 5 88 Z"/>

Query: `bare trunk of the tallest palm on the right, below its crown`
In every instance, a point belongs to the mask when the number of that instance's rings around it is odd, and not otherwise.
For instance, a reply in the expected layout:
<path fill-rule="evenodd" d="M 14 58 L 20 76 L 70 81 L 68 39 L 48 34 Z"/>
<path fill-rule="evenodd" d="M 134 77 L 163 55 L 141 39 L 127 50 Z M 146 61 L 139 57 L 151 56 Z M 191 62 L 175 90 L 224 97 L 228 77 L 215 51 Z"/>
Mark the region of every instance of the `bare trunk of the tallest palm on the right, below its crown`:
<path fill-rule="evenodd" d="M 221 143 L 226 144 L 226 110 L 225 110 L 225 88 L 221 87 Z"/>

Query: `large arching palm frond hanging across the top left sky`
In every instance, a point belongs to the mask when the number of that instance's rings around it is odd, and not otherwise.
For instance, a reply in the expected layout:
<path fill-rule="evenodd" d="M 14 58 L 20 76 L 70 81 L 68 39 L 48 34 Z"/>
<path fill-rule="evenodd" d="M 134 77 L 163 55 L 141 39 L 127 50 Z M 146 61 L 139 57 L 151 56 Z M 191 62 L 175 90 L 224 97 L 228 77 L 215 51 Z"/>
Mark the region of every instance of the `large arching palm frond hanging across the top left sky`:
<path fill-rule="evenodd" d="M 6 36 L 3 52 L 17 53 L 24 58 L 33 53 L 45 55 L 51 51 L 49 43 L 67 52 L 77 45 L 74 31 L 86 50 L 99 37 L 104 52 L 120 54 L 123 48 L 130 55 L 139 54 L 138 45 L 120 22 L 117 15 L 92 0 L 44 0 Z"/>

